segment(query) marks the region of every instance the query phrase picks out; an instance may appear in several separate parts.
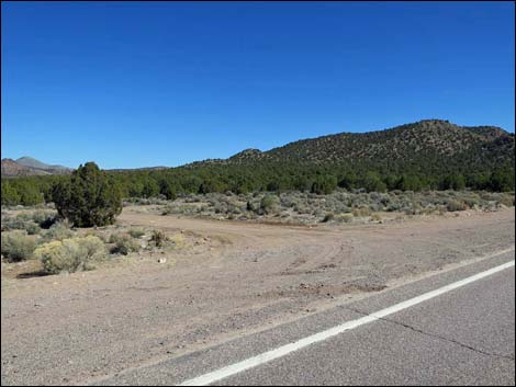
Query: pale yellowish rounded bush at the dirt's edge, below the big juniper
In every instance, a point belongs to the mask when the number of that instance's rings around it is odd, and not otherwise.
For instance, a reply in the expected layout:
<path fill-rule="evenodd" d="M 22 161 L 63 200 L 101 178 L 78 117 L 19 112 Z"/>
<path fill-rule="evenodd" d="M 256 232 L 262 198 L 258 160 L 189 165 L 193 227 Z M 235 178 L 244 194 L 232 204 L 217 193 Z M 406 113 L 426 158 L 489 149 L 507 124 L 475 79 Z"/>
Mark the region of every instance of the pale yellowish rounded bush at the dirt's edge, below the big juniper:
<path fill-rule="evenodd" d="M 92 269 L 92 263 L 105 255 L 105 246 L 94 236 L 69 238 L 44 243 L 34 251 L 34 255 L 48 274 L 72 273 Z"/>

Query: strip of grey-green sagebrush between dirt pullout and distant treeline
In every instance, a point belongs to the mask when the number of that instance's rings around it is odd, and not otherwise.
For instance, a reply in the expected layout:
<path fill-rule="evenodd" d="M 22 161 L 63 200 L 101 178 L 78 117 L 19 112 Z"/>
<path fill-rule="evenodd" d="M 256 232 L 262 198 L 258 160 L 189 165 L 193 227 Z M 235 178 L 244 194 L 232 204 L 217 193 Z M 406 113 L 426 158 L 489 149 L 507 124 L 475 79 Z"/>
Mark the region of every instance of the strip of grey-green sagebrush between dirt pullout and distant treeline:
<path fill-rule="evenodd" d="M 176 214 L 215 219 L 271 219 L 287 224 L 339 224 L 383 221 L 392 215 L 431 215 L 464 209 L 496 210 L 514 205 L 514 193 L 472 191 L 337 190 L 328 195 L 284 192 L 279 194 L 190 194 L 160 206 L 161 215 Z M 382 216 L 383 214 L 383 216 Z M 392 214 L 392 215 L 389 215 Z"/>

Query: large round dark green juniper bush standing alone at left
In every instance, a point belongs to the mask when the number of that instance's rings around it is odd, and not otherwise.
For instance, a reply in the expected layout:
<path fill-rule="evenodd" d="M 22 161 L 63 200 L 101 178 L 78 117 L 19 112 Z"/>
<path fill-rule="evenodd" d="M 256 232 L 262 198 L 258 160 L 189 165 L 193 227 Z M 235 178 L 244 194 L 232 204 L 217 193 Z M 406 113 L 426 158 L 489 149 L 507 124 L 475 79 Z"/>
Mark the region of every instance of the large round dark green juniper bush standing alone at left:
<path fill-rule="evenodd" d="M 76 227 L 111 225 L 122 212 L 119 185 L 94 162 L 80 166 L 69 181 L 55 185 L 53 198 L 59 215 Z"/>

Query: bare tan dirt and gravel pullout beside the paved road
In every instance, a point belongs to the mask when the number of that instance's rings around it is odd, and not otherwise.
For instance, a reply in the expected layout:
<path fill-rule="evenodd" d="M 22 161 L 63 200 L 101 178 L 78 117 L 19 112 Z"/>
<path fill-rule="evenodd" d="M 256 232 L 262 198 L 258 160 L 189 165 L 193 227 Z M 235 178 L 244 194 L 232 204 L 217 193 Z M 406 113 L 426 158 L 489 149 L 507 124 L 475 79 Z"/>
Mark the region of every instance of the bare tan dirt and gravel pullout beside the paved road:
<path fill-rule="evenodd" d="M 139 214 L 200 235 L 175 263 L 2 281 L 2 384 L 79 384 L 270 328 L 514 247 L 514 208 L 360 227 L 285 227 Z"/>

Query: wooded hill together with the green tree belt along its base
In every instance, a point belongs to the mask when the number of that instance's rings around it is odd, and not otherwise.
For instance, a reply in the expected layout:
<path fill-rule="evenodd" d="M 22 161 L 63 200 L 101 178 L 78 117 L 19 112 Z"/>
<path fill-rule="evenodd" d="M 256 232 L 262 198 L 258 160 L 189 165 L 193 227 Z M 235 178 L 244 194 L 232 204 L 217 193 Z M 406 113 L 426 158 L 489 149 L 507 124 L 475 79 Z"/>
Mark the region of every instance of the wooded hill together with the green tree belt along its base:
<path fill-rule="evenodd" d="M 426 119 L 391 129 L 303 139 L 269 151 L 177 168 L 106 171 L 125 197 L 232 191 L 514 191 L 515 137 L 494 126 Z M 52 201 L 69 177 L 2 179 L 3 204 Z M 4 198 L 5 197 L 5 198 Z"/>

